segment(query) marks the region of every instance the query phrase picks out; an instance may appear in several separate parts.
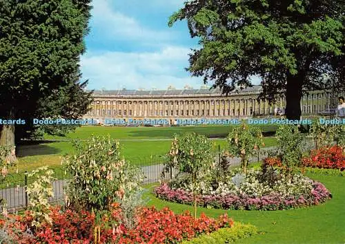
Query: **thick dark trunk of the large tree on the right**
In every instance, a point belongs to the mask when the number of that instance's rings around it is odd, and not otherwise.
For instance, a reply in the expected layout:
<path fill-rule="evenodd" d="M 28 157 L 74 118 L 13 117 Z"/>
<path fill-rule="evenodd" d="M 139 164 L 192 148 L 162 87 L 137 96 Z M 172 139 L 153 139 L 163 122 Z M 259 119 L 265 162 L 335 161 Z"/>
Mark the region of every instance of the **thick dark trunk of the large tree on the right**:
<path fill-rule="evenodd" d="M 286 84 L 286 109 L 285 114 L 288 120 L 299 120 L 302 115 L 301 98 L 304 75 L 287 75 Z"/>

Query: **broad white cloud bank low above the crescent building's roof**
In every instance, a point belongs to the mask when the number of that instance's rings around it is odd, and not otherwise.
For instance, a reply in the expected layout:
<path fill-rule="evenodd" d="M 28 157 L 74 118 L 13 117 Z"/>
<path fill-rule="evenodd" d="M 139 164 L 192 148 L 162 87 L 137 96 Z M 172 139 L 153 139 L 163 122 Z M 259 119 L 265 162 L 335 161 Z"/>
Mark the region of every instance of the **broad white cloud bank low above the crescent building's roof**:
<path fill-rule="evenodd" d="M 201 77 L 190 77 L 188 48 L 168 46 L 153 53 L 86 53 L 81 58 L 83 79 L 88 88 L 166 89 L 169 85 L 183 88 L 186 84 L 199 88 Z"/>

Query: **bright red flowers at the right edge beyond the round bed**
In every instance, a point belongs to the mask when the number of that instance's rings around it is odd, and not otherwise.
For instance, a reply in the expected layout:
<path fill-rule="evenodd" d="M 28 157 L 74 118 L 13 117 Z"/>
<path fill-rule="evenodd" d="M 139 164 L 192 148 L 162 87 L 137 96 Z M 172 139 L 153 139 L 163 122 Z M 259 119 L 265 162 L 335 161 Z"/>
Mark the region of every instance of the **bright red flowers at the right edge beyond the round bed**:
<path fill-rule="evenodd" d="M 344 169 L 345 153 L 342 147 L 322 147 L 311 151 L 311 156 L 302 159 L 303 165 L 323 169 Z"/>

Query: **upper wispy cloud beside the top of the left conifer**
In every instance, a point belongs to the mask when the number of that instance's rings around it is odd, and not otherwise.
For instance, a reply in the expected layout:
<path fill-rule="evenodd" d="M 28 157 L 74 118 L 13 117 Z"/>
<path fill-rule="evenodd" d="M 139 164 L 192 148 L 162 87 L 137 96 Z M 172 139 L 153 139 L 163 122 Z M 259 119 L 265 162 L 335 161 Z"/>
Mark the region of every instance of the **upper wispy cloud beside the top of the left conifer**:
<path fill-rule="evenodd" d="M 164 41 L 173 35 L 171 31 L 151 30 L 136 19 L 112 10 L 109 0 L 93 1 L 91 26 L 101 33 L 101 38 L 146 41 Z"/>

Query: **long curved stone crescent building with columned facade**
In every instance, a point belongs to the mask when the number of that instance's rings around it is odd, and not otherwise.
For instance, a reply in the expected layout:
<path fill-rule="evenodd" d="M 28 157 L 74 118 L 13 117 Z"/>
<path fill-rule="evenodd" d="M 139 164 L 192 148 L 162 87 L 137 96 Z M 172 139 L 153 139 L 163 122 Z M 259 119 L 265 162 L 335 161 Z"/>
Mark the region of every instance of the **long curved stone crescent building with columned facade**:
<path fill-rule="evenodd" d="M 166 91 L 94 91 L 94 101 L 85 119 L 103 123 L 106 118 L 166 119 L 174 124 L 177 118 L 250 118 L 284 114 L 285 97 L 275 104 L 258 100 L 261 86 L 236 90 L 222 95 L 220 89 L 168 89 Z M 333 97 L 332 97 L 333 96 Z M 312 91 L 301 100 L 302 115 L 317 115 L 330 110 L 334 94 Z M 333 101 L 334 103 L 334 101 Z"/>

